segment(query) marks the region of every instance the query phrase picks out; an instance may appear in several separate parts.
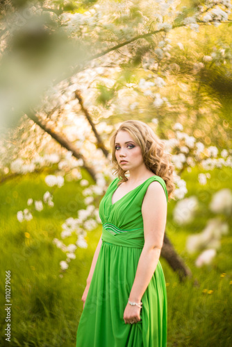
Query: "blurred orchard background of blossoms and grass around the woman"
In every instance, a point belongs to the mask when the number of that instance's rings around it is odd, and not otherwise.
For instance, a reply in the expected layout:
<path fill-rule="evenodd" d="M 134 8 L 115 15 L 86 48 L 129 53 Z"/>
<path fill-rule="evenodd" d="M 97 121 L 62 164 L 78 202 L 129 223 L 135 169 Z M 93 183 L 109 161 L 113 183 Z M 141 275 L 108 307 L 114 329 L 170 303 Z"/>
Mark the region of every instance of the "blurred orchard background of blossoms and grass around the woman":
<path fill-rule="evenodd" d="M 75 346 L 126 119 L 175 167 L 167 346 L 232 346 L 231 23 L 229 0 L 0 1 L 1 346 Z"/>

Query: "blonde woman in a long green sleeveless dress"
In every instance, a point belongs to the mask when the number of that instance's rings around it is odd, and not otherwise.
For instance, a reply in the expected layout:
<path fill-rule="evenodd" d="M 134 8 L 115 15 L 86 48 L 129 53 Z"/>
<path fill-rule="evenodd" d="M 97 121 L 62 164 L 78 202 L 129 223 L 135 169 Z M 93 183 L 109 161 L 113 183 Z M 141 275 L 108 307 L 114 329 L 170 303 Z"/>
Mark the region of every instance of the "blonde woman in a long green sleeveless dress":
<path fill-rule="evenodd" d="M 165 347 L 159 257 L 174 167 L 163 141 L 142 121 L 124 121 L 110 144 L 117 178 L 99 205 L 103 229 L 81 299 L 76 347 Z"/>

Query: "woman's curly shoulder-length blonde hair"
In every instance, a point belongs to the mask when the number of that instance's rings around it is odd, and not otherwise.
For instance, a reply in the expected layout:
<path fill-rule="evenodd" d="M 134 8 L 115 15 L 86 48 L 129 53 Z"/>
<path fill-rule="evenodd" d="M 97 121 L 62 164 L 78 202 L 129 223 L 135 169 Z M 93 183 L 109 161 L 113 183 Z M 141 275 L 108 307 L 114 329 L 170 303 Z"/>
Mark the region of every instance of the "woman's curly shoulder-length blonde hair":
<path fill-rule="evenodd" d="M 174 185 L 174 165 L 171 163 L 172 155 L 165 153 L 165 144 L 163 140 L 154 133 L 150 126 L 148 126 L 143 121 L 138 120 L 128 120 L 124 121 L 115 133 L 113 133 L 110 138 L 110 146 L 112 148 L 112 171 L 116 173 L 118 178 L 121 178 L 118 184 L 126 182 L 126 171 L 119 167 L 115 156 L 115 138 L 120 130 L 127 131 L 133 140 L 135 141 L 142 151 L 142 157 L 146 167 L 154 172 L 156 176 L 160 176 L 165 181 L 167 187 L 168 198 L 174 198 L 173 192 L 175 189 Z"/>

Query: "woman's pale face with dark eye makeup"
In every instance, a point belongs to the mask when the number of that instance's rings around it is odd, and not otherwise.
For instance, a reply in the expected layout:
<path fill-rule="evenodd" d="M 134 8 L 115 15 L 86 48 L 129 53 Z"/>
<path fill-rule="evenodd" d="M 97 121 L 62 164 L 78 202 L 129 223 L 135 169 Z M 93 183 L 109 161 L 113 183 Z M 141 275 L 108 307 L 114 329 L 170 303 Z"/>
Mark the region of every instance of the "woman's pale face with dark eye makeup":
<path fill-rule="evenodd" d="M 125 130 L 119 130 L 115 138 L 115 156 L 119 166 L 124 170 L 133 170 L 144 164 L 142 151 Z M 126 160 L 126 162 L 121 162 Z"/>

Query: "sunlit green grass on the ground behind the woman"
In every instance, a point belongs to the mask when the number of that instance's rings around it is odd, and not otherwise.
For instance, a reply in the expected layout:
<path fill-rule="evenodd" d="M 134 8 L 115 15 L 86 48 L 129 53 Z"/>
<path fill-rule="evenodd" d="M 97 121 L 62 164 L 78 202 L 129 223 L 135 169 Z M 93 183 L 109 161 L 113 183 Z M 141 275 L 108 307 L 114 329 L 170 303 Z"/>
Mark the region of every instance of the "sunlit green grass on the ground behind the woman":
<path fill-rule="evenodd" d="M 194 222 L 178 226 L 172 222 L 174 202 L 168 205 L 167 236 L 176 251 L 190 267 L 198 285 L 192 280 L 179 282 L 165 259 L 160 258 L 167 282 L 168 336 L 167 346 L 232 346 L 232 269 L 231 269 L 231 219 L 228 219 L 229 235 L 222 237 L 222 248 L 217 251 L 213 263 L 201 269 L 194 266 L 198 254 L 185 251 L 188 235 L 201 232 L 209 218 L 210 194 L 222 187 L 231 188 L 229 168 L 210 171 L 212 182 L 200 186 L 197 169 L 185 173 L 188 194 L 197 195 L 201 210 Z M 222 175 L 223 172 L 223 175 Z M 1 253 L 1 336 L 0 346 L 75 346 L 76 330 L 83 309 L 81 296 L 90 270 L 92 257 L 101 236 L 101 226 L 88 232 L 88 248 L 78 248 L 76 259 L 69 268 L 59 274 L 60 260 L 65 253 L 52 244 L 60 239 L 61 224 L 68 217 L 77 217 L 84 208 L 82 187 L 76 182 L 67 182 L 53 192 L 53 208 L 35 211 L 31 221 L 19 223 L 17 211 L 26 208 L 28 198 L 41 200 L 42 194 L 51 188 L 44 183 L 44 174 L 27 174 L 8 181 L 0 187 Z M 223 177 L 223 179 L 222 179 Z M 219 181 L 219 186 L 218 186 Z M 30 237 L 26 237 L 27 232 Z M 5 271 L 11 271 L 11 342 L 5 341 Z M 226 273 L 221 277 L 222 273 Z M 90 346 L 91 347 L 91 346 Z"/>

